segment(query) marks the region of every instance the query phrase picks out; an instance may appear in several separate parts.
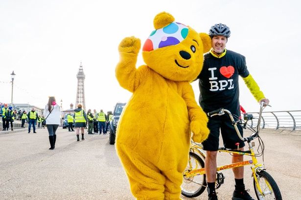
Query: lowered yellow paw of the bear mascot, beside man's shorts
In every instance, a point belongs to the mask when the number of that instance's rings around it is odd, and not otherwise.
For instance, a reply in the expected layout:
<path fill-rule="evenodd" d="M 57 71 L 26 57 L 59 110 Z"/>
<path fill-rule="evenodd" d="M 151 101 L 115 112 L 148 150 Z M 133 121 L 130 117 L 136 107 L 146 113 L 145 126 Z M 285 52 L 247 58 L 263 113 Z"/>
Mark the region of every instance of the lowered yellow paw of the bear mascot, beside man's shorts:
<path fill-rule="evenodd" d="M 203 142 L 209 135 L 207 123 L 204 120 L 192 121 L 190 123 L 191 132 L 193 133 L 192 140 L 195 142 Z"/>

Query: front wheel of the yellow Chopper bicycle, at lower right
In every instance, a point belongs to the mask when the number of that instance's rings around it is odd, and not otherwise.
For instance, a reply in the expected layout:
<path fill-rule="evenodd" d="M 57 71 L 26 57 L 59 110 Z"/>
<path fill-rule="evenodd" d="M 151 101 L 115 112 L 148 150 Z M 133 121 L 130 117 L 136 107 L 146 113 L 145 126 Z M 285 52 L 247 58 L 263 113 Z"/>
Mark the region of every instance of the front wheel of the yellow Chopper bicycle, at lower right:
<path fill-rule="evenodd" d="M 263 193 L 260 194 L 255 183 L 255 178 L 253 180 L 255 194 L 258 200 L 282 200 L 280 190 L 276 181 L 267 173 L 266 171 L 260 171 L 256 173 L 259 187 Z"/>

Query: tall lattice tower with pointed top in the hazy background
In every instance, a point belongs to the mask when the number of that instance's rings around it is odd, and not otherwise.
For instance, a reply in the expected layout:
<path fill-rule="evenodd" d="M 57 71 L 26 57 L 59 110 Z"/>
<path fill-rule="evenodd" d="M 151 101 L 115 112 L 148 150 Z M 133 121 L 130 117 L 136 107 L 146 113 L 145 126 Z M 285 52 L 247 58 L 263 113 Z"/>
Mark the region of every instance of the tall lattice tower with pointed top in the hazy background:
<path fill-rule="evenodd" d="M 83 70 L 82 63 L 80 63 L 78 73 L 76 75 L 77 77 L 77 91 L 76 91 L 76 104 L 75 108 L 77 108 L 78 104 L 83 105 L 83 110 L 86 111 L 86 103 L 85 103 L 85 74 Z"/>

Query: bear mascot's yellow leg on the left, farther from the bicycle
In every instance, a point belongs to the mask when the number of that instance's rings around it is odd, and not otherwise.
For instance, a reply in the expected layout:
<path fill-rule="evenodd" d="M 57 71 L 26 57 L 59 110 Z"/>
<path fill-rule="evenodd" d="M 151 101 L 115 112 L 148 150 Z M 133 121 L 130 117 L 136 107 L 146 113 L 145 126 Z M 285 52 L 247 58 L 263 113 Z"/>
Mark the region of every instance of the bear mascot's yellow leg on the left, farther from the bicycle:
<path fill-rule="evenodd" d="M 165 177 L 160 170 L 131 147 L 117 143 L 116 149 L 134 197 L 137 200 L 164 200 Z"/>

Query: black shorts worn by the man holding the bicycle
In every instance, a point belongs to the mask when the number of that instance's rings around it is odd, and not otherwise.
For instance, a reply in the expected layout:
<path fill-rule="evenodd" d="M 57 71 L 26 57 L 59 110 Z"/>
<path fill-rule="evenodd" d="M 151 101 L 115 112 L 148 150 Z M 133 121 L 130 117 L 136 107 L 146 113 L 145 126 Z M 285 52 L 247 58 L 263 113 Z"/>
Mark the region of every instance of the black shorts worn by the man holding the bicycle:
<path fill-rule="evenodd" d="M 243 130 L 240 125 L 237 128 L 243 136 Z M 227 149 L 237 149 L 235 143 L 239 142 L 239 148 L 244 147 L 245 143 L 238 137 L 232 121 L 228 114 L 222 116 L 209 117 L 208 129 L 210 130 L 208 138 L 202 143 L 205 151 L 217 151 L 219 147 L 219 133 L 222 133 L 224 146 Z"/>

